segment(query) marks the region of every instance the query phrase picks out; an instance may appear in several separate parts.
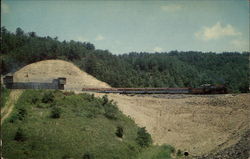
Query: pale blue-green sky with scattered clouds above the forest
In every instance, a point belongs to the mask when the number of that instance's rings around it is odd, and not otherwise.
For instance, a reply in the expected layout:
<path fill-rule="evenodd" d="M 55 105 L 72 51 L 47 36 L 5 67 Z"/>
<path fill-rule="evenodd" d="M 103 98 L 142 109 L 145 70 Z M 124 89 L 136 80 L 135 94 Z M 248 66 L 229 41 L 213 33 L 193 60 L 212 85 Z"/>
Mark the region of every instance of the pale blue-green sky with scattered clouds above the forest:
<path fill-rule="evenodd" d="M 249 51 L 248 0 L 2 0 L 1 24 L 113 54 Z"/>

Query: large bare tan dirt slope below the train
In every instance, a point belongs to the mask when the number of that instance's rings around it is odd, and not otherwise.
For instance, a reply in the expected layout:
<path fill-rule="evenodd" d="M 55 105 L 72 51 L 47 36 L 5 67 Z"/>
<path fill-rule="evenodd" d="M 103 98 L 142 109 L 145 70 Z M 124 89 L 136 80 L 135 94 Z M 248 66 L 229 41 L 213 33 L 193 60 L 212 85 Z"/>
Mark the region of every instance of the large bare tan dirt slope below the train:
<path fill-rule="evenodd" d="M 194 156 L 236 144 L 250 128 L 250 94 L 108 96 L 146 127 L 155 144 L 174 145 Z"/>

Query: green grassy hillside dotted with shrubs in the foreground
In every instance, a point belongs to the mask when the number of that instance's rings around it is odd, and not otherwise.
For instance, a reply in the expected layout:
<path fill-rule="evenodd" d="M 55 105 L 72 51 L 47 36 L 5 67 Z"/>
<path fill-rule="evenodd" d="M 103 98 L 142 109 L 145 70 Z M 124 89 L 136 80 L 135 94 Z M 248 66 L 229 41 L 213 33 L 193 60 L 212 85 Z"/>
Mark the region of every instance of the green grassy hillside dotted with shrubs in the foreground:
<path fill-rule="evenodd" d="M 171 158 L 106 96 L 27 90 L 2 125 L 3 156 L 11 159 Z M 146 153 L 146 154 L 145 154 Z M 142 157 L 140 157 L 142 156 Z"/>

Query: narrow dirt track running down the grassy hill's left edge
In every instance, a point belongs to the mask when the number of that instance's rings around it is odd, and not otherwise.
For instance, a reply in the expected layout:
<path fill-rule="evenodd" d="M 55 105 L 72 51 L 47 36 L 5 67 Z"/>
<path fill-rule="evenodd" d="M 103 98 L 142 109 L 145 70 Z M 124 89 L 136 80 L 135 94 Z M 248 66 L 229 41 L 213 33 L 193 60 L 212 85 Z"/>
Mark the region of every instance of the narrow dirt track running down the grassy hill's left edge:
<path fill-rule="evenodd" d="M 8 101 L 6 102 L 3 109 L 1 109 L 1 125 L 3 121 L 9 117 L 10 113 L 12 112 L 15 103 L 17 102 L 18 98 L 22 94 L 23 90 L 11 90 Z"/>

